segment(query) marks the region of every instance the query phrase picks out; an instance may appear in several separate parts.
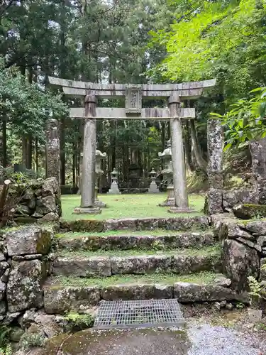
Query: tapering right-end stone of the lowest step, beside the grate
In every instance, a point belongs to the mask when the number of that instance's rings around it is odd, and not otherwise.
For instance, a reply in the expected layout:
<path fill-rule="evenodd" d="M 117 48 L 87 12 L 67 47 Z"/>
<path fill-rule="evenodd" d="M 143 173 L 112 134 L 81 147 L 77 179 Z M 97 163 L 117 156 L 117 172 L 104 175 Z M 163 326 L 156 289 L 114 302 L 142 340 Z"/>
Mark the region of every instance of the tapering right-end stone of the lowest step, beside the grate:
<path fill-rule="evenodd" d="M 175 283 L 174 298 L 179 302 L 214 302 L 223 300 L 242 300 L 247 298 L 236 294 L 230 288 L 223 288 L 219 285 L 207 285 L 196 283 Z"/>

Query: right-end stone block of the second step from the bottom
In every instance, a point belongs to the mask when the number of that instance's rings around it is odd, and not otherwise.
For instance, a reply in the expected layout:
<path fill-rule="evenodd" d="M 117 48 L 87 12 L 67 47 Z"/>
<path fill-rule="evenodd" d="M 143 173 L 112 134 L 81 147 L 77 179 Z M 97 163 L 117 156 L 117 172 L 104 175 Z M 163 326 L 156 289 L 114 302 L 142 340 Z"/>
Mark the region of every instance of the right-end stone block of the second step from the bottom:
<path fill-rule="evenodd" d="M 206 256 L 173 256 L 172 271 L 179 275 L 186 275 L 199 271 L 221 271 L 221 252 Z"/>

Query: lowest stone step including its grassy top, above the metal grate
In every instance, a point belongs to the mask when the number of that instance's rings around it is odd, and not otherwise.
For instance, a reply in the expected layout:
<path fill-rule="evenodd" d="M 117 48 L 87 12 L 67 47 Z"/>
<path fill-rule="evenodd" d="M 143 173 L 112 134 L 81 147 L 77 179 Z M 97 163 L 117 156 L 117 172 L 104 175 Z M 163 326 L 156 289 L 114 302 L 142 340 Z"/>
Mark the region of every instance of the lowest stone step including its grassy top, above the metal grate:
<path fill-rule="evenodd" d="M 179 302 L 248 302 L 228 288 L 231 281 L 216 273 L 174 275 L 114 275 L 110 278 L 52 277 L 45 283 L 44 307 L 48 314 L 86 312 L 101 300 L 149 300 L 177 298 Z"/>

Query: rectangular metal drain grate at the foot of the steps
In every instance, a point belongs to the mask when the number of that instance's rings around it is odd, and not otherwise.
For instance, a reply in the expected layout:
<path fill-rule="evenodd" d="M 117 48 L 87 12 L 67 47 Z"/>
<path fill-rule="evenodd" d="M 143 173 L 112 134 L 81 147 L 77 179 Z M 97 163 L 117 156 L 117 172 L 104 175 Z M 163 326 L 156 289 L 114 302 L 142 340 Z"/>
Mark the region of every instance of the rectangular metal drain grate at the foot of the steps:
<path fill-rule="evenodd" d="M 178 327 L 184 318 L 177 300 L 102 302 L 94 328 Z"/>

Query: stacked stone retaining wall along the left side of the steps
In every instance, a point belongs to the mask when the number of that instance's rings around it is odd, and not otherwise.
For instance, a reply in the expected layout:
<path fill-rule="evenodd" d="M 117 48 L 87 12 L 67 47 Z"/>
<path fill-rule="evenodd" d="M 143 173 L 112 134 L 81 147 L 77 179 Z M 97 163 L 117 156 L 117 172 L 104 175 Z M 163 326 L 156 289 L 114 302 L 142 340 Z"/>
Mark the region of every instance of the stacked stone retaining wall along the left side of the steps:
<path fill-rule="evenodd" d="M 1 233 L 0 320 L 10 323 L 31 308 L 43 307 L 49 274 L 52 229 L 31 226 Z"/>

